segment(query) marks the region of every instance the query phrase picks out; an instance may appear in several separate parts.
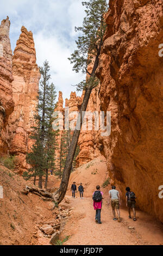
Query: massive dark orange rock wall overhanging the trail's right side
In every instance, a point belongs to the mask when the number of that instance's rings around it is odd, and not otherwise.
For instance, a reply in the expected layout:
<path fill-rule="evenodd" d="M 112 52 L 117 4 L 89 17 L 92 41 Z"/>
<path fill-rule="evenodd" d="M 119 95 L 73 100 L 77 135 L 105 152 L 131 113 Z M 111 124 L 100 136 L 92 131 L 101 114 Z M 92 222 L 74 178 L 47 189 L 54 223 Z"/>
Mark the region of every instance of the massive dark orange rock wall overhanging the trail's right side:
<path fill-rule="evenodd" d="M 158 197 L 162 173 L 163 3 L 110 0 L 97 75 L 103 111 L 111 111 L 111 135 L 98 136 L 112 180 L 126 186 L 140 209 L 163 221 Z"/>

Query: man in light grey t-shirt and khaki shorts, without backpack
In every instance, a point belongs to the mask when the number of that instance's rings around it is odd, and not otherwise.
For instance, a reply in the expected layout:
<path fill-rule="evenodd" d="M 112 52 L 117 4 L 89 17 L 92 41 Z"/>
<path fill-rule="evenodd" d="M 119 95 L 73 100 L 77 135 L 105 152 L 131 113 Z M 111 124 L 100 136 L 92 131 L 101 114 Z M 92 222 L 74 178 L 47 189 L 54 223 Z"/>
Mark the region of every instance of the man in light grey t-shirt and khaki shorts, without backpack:
<path fill-rule="evenodd" d="M 109 199 L 108 199 L 108 205 L 110 204 L 110 197 L 111 197 L 111 207 L 112 207 L 112 214 L 114 215 L 113 220 L 116 221 L 116 214 L 115 214 L 115 208 L 117 210 L 118 214 L 118 222 L 121 222 L 120 219 L 120 193 L 116 190 L 115 186 L 111 186 L 112 190 L 109 190 Z"/>

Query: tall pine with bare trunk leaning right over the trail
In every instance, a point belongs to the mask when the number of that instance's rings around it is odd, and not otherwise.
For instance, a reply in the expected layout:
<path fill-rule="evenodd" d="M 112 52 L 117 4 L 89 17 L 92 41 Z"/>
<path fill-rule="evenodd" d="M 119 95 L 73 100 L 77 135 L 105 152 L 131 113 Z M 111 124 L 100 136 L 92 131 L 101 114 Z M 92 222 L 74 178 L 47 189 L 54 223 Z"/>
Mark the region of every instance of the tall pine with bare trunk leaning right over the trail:
<path fill-rule="evenodd" d="M 87 75 L 86 81 L 82 81 L 78 84 L 78 89 L 85 90 L 83 103 L 80 109 L 80 127 L 82 127 L 82 112 L 86 111 L 87 103 L 93 88 L 98 84 L 95 72 L 99 63 L 99 54 L 103 46 L 103 37 L 106 30 L 106 24 L 104 22 L 104 14 L 108 10 L 108 4 L 106 0 L 90 0 L 88 2 L 82 2 L 86 7 L 86 16 L 83 20 L 83 27 L 76 27 L 76 32 L 80 32 L 76 41 L 77 50 L 71 54 L 70 62 L 73 64 L 73 70 L 77 73 L 82 71 Z M 89 72 L 87 67 L 93 66 L 92 71 Z M 65 168 L 62 174 L 62 180 L 59 190 L 54 193 L 54 200 L 58 203 L 64 199 L 68 181 L 71 174 L 73 157 L 76 152 L 78 138 L 80 130 L 74 130 L 73 138 L 71 141 L 70 149 L 65 163 Z"/>

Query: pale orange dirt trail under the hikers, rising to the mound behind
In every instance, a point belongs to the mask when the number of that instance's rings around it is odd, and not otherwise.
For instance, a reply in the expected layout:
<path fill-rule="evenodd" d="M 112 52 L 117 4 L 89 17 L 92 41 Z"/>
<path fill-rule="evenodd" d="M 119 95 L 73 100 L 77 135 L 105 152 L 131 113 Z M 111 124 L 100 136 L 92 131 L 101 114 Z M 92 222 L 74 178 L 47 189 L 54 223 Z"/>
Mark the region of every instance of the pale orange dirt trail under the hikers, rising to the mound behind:
<path fill-rule="evenodd" d="M 108 190 L 103 188 L 108 178 L 104 158 L 97 159 L 79 167 L 70 176 L 66 197 L 70 198 L 70 207 L 74 212 L 67 219 L 64 232 L 60 239 L 70 235 L 64 245 L 163 245 L 163 224 L 142 211 L 136 212 L 137 221 L 128 218 L 126 207 L 121 206 L 122 222 L 113 221 L 111 205 L 108 206 Z M 71 184 L 76 181 L 84 186 L 84 199 L 71 197 Z M 92 206 L 92 193 L 96 185 L 104 192 L 104 203 L 101 213 L 102 224 L 95 223 L 95 210 Z M 121 195 L 123 197 L 123 195 Z"/>

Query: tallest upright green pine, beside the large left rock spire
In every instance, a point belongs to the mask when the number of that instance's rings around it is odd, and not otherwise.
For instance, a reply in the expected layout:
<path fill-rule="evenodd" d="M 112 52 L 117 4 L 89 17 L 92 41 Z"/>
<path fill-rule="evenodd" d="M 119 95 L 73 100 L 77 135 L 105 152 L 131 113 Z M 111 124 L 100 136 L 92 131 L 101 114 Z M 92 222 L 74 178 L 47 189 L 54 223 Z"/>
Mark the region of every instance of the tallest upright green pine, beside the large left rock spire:
<path fill-rule="evenodd" d="M 40 68 L 41 80 L 35 114 L 36 125 L 32 127 L 33 132 L 30 136 L 35 143 L 31 152 L 27 154 L 27 163 L 32 168 L 23 174 L 26 179 L 31 176 L 39 176 L 40 188 L 42 188 L 42 176 L 44 174 L 46 174 L 45 187 L 47 187 L 48 169 L 54 166 L 55 132 L 52 129 L 52 115 L 55 107 L 56 92 L 54 84 L 49 84 L 51 79 L 49 70 L 50 67 L 46 60 L 43 63 L 43 67 Z"/>

